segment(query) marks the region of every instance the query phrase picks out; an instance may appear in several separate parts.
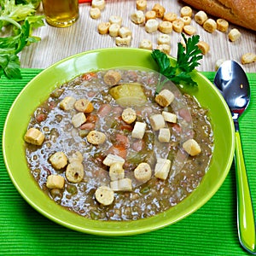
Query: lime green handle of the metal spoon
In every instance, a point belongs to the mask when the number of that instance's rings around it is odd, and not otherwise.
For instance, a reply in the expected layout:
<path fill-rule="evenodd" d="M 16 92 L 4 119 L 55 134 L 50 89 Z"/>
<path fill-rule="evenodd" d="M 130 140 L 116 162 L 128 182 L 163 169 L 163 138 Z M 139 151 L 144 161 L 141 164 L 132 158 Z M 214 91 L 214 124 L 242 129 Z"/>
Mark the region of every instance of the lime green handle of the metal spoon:
<path fill-rule="evenodd" d="M 242 154 L 239 131 L 236 131 L 235 137 L 238 235 L 241 246 L 244 247 L 249 253 L 256 254 L 253 204 L 247 180 L 246 166 Z"/>

